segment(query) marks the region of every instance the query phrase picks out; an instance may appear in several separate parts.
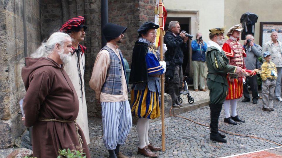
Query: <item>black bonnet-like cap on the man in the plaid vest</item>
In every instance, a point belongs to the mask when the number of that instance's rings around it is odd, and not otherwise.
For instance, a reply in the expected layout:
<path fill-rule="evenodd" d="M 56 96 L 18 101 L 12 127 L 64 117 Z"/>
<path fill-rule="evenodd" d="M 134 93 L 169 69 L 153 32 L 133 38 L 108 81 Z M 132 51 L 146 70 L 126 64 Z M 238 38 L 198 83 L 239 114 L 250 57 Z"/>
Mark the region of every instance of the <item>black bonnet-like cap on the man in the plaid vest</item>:
<path fill-rule="evenodd" d="M 126 27 L 120 26 L 120 25 L 116 25 L 113 23 L 107 23 L 104 27 L 103 27 L 103 34 L 107 40 L 107 42 L 109 42 L 110 40 L 113 40 L 117 37 L 120 36 L 120 34 L 124 33 L 126 31 Z"/>

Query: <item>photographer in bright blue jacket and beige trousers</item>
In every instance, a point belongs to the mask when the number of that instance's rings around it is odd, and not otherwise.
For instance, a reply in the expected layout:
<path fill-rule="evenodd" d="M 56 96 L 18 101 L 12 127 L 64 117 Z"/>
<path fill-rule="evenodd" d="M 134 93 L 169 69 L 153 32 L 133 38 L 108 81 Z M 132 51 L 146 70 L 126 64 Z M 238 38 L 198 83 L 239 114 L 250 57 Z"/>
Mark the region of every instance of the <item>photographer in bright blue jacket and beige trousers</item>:
<path fill-rule="evenodd" d="M 193 68 L 193 86 L 194 91 L 198 91 L 198 76 L 200 79 L 200 90 L 206 92 L 205 89 L 205 76 L 204 68 L 206 66 L 206 50 L 207 43 L 203 41 L 202 34 L 196 34 L 196 40 L 193 40 L 191 43 L 192 47 L 192 68 Z"/>

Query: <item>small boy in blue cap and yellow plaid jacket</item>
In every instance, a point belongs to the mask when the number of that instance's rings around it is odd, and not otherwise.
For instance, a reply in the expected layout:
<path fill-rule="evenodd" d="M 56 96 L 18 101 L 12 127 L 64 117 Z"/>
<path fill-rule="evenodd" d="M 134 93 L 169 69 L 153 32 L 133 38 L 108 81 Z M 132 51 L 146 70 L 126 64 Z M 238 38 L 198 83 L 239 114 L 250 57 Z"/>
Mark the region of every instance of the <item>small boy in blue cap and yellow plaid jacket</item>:
<path fill-rule="evenodd" d="M 273 95 L 277 80 L 276 65 L 271 62 L 271 54 L 269 51 L 263 53 L 265 61 L 261 65 L 261 90 L 263 111 L 273 111 Z"/>

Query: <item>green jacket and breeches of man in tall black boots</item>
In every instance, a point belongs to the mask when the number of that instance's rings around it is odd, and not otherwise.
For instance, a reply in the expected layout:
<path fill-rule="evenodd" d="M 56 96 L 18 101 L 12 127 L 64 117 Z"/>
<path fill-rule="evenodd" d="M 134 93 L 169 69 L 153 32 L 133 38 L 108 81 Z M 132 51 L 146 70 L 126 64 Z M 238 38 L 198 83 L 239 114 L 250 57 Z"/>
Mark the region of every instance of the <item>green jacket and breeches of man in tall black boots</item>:
<path fill-rule="evenodd" d="M 214 46 L 207 48 L 206 60 L 210 104 L 222 104 L 228 93 L 226 75 L 228 72 L 234 73 L 236 66 L 229 65 L 229 60 L 224 51 L 219 51 Z"/>

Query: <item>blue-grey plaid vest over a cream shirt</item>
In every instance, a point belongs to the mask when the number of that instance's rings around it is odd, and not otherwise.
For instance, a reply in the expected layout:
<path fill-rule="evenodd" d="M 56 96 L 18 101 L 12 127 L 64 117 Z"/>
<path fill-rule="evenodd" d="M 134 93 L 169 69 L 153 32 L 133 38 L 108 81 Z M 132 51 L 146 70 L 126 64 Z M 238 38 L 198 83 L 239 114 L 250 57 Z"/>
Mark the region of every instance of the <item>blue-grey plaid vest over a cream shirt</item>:
<path fill-rule="evenodd" d="M 110 66 L 107 70 L 106 81 L 102 87 L 101 92 L 113 95 L 123 95 L 122 93 L 122 75 L 125 76 L 125 68 L 123 64 L 123 56 L 120 49 L 117 49 L 120 54 L 120 59 L 118 59 L 115 52 L 108 46 L 103 47 L 101 50 L 107 50 L 110 54 Z M 124 74 L 122 74 L 121 69 L 123 68 Z M 127 87 L 128 90 L 128 87 Z"/>

